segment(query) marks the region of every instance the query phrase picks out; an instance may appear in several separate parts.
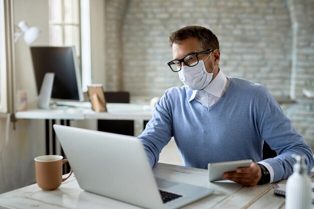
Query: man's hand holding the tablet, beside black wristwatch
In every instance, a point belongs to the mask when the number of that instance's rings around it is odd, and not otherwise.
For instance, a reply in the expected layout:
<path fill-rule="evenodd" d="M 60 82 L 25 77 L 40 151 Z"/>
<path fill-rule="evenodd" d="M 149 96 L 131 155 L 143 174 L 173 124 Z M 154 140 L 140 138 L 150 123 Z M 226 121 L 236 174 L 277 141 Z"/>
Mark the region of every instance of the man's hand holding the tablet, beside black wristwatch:
<path fill-rule="evenodd" d="M 239 167 L 236 171 L 225 172 L 222 177 L 241 183 L 245 186 L 255 186 L 261 178 L 261 168 L 255 162 L 250 167 Z"/>

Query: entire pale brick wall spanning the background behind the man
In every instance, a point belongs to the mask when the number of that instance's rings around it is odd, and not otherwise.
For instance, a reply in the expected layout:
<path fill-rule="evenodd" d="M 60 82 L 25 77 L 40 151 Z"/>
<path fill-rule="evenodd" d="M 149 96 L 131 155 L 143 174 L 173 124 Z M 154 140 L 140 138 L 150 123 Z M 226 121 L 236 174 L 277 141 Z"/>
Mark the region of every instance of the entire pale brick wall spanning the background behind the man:
<path fill-rule="evenodd" d="M 107 0 L 106 90 L 149 99 L 182 85 L 167 66 L 168 35 L 204 26 L 220 41 L 226 75 L 263 84 L 277 98 L 293 90 L 297 103 L 282 108 L 314 144 L 314 100 L 302 95 L 305 84 L 314 86 L 313 5 L 314 0 Z"/>

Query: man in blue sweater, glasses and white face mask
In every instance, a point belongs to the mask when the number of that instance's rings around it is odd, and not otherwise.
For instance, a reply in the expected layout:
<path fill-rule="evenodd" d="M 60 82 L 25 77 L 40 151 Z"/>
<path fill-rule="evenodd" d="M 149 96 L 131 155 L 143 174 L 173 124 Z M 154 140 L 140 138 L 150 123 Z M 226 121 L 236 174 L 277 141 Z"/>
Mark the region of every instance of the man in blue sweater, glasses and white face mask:
<path fill-rule="evenodd" d="M 184 86 L 165 92 L 138 136 L 151 167 L 174 136 L 186 166 L 252 159 L 250 167 L 223 174 L 247 186 L 288 178 L 295 162 L 292 153 L 304 155 L 308 171 L 312 169 L 310 147 L 267 89 L 220 70 L 219 42 L 210 30 L 182 28 L 170 34 L 169 45 L 174 60 L 168 65 L 179 72 Z M 278 156 L 262 159 L 264 140 Z"/>

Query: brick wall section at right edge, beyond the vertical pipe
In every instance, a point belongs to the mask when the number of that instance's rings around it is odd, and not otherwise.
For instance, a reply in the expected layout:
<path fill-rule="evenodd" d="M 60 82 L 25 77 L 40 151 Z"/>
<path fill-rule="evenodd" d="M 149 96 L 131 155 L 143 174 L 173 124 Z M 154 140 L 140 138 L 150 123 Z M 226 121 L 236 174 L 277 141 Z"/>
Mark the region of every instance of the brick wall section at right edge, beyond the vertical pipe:
<path fill-rule="evenodd" d="M 293 94 L 297 103 L 282 105 L 282 109 L 297 131 L 314 147 L 314 99 L 302 94 L 304 88 L 314 91 L 314 1 L 289 0 L 287 5 L 292 31 L 293 25 L 297 24 L 295 49 L 292 51 L 292 55 L 295 54 Z"/>

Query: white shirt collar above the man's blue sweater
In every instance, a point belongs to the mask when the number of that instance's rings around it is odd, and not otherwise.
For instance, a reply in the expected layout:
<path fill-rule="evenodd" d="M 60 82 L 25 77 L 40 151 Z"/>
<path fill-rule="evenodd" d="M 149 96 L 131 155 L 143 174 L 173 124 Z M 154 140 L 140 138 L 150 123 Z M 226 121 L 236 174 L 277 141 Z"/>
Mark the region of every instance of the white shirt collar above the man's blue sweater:
<path fill-rule="evenodd" d="M 222 70 L 219 70 L 214 80 L 212 80 L 203 90 L 211 95 L 220 97 L 225 88 L 226 82 L 227 82 L 227 77 L 222 72 Z M 191 102 L 195 98 L 197 91 L 200 91 L 200 90 L 193 90 L 192 95 L 189 99 L 189 102 Z"/>

